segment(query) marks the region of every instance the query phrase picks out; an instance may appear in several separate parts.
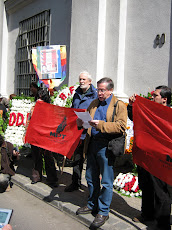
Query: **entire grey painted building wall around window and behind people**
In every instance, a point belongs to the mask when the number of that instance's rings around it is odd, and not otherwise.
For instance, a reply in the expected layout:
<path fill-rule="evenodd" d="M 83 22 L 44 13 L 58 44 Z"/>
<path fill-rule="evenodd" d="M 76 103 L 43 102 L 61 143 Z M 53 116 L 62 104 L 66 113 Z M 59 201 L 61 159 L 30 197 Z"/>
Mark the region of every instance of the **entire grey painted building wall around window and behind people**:
<path fill-rule="evenodd" d="M 1 4 L 2 2 L 0 1 Z M 14 93 L 15 88 L 19 22 L 47 9 L 51 11 L 50 44 L 67 45 L 69 79 L 66 79 L 65 83 L 69 86 L 75 84 L 78 82 L 79 73 L 87 70 L 93 77 L 93 84 L 96 85 L 99 68 L 98 41 L 101 34 L 100 5 L 103 3 L 106 5 L 104 11 L 106 16 L 103 21 L 106 26 L 105 46 L 102 47 L 105 51 L 103 74 L 111 77 L 116 86 L 120 56 L 118 47 L 121 41 L 119 40 L 121 2 L 121 0 L 33 0 L 27 6 L 10 14 L 7 41 L 7 94 Z M 134 92 L 146 94 L 161 84 L 172 87 L 171 0 L 125 0 L 125 2 L 127 2 L 127 28 L 123 93 L 128 96 Z M 1 11 L 0 7 L 0 13 Z M 155 37 L 157 34 L 161 36 L 162 33 L 166 35 L 166 42 L 156 47 Z M 1 36 L 0 20 L 0 46 L 2 46 Z"/>

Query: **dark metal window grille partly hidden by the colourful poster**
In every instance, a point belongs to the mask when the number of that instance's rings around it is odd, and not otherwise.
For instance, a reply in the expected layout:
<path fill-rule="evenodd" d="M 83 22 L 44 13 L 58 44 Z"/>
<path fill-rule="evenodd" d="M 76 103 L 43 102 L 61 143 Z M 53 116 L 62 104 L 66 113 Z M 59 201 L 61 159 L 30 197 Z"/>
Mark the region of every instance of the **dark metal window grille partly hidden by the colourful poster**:
<path fill-rule="evenodd" d="M 30 83 L 37 81 L 32 64 L 32 48 L 49 45 L 50 10 L 45 10 L 19 23 L 17 95 L 30 95 Z"/>

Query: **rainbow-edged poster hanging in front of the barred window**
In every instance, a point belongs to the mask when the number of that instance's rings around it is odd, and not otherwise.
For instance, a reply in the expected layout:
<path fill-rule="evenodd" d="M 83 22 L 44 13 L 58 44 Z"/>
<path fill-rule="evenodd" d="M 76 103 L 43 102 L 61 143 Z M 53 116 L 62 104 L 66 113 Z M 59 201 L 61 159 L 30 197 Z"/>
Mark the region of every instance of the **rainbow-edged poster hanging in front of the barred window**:
<path fill-rule="evenodd" d="M 38 46 L 32 49 L 32 63 L 40 83 L 49 89 L 66 78 L 66 46 Z"/>

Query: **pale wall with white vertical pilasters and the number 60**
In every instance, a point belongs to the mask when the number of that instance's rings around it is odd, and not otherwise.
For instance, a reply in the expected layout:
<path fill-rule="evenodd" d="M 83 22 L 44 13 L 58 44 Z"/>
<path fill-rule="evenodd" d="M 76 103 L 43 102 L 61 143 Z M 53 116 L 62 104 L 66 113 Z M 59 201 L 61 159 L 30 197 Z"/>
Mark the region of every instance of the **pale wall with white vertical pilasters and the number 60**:
<path fill-rule="evenodd" d="M 102 3 L 106 9 L 101 11 Z M 123 99 L 134 92 L 147 94 L 157 85 L 170 86 L 170 16 L 170 0 L 74 0 L 70 85 L 86 69 L 93 75 L 94 85 L 100 77 L 112 78 L 115 93 Z M 162 33 L 166 34 L 166 42 L 155 47 L 154 39 Z"/>

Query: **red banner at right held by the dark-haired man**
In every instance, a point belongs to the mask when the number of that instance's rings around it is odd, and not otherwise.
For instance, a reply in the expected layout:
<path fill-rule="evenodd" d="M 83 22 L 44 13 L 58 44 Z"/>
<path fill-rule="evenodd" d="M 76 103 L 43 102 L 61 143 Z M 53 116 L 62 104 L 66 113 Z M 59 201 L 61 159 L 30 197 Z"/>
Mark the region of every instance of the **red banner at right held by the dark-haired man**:
<path fill-rule="evenodd" d="M 172 109 L 137 96 L 133 161 L 172 185 Z"/>

